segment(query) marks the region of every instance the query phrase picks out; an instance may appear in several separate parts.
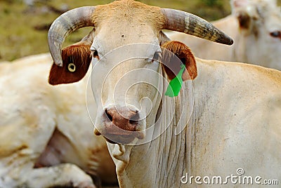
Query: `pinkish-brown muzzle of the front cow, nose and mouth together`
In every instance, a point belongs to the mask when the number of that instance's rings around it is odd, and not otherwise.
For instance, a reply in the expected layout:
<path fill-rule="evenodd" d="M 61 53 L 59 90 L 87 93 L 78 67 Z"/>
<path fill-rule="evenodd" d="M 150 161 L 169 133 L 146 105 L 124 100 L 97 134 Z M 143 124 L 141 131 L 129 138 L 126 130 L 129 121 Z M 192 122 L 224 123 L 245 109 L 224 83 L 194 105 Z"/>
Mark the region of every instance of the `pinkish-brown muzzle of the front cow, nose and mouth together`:
<path fill-rule="evenodd" d="M 110 107 L 103 113 L 103 128 L 95 129 L 96 135 L 103 135 L 108 142 L 129 144 L 136 137 L 144 138 L 141 131 L 143 120 L 138 110 Z"/>

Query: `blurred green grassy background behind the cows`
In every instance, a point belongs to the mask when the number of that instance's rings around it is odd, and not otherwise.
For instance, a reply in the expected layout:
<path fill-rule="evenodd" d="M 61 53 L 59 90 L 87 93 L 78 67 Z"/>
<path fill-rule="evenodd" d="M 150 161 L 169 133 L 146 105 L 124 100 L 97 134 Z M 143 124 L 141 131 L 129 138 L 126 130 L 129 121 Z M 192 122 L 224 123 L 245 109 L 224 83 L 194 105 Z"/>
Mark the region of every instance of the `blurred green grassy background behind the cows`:
<path fill-rule="evenodd" d="M 107 4 L 112 0 L 0 0 L 0 61 L 46 53 L 47 32 L 60 14 L 79 6 Z M 176 8 L 212 21 L 230 14 L 230 0 L 141 0 L 162 8 Z M 278 0 L 278 5 L 281 0 Z M 91 28 L 67 37 L 64 46 L 79 41 Z"/>

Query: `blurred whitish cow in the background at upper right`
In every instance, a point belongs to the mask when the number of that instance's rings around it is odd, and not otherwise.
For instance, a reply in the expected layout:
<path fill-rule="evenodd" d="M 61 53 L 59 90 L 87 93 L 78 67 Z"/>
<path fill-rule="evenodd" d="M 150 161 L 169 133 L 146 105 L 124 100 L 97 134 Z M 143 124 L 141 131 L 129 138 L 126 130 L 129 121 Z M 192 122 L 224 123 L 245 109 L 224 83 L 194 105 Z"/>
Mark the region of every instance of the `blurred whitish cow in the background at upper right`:
<path fill-rule="evenodd" d="M 213 24 L 234 39 L 223 46 L 178 32 L 166 32 L 182 41 L 199 58 L 247 62 L 281 70 L 281 12 L 275 0 L 233 0 L 232 14 Z M 202 48 L 206 49 L 202 51 Z"/>

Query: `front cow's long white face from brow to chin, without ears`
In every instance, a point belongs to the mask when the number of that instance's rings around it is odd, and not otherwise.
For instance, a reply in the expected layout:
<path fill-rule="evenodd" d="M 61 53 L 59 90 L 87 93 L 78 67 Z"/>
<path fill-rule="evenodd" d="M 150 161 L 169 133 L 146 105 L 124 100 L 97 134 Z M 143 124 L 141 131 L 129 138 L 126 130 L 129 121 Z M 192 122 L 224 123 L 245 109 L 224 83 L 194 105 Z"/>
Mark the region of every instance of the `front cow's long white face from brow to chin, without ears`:
<path fill-rule="evenodd" d="M 161 54 L 158 37 L 148 26 L 148 35 L 140 36 L 138 29 L 113 33 L 107 41 L 104 34 L 110 31 L 108 25 L 100 29 L 91 46 L 95 55 L 92 88 L 98 104 L 96 134 L 113 142 L 129 143 L 135 137 L 145 137 L 143 130 L 150 124 L 148 119 L 155 119 L 162 93 L 157 90 L 162 81 L 158 76 L 162 69 L 155 58 Z"/>

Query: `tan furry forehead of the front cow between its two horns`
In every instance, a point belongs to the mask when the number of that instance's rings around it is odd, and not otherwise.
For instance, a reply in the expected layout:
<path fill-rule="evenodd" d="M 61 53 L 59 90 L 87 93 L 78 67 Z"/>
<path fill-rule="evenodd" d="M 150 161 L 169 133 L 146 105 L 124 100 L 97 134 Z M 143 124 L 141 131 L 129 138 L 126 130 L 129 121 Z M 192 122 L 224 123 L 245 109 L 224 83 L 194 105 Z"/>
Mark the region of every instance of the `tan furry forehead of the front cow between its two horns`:
<path fill-rule="evenodd" d="M 160 8 L 137 1 L 124 2 L 96 8 L 93 15 L 96 29 L 93 48 L 99 53 L 107 53 L 131 43 L 155 44 L 159 36 L 164 24 Z"/>

